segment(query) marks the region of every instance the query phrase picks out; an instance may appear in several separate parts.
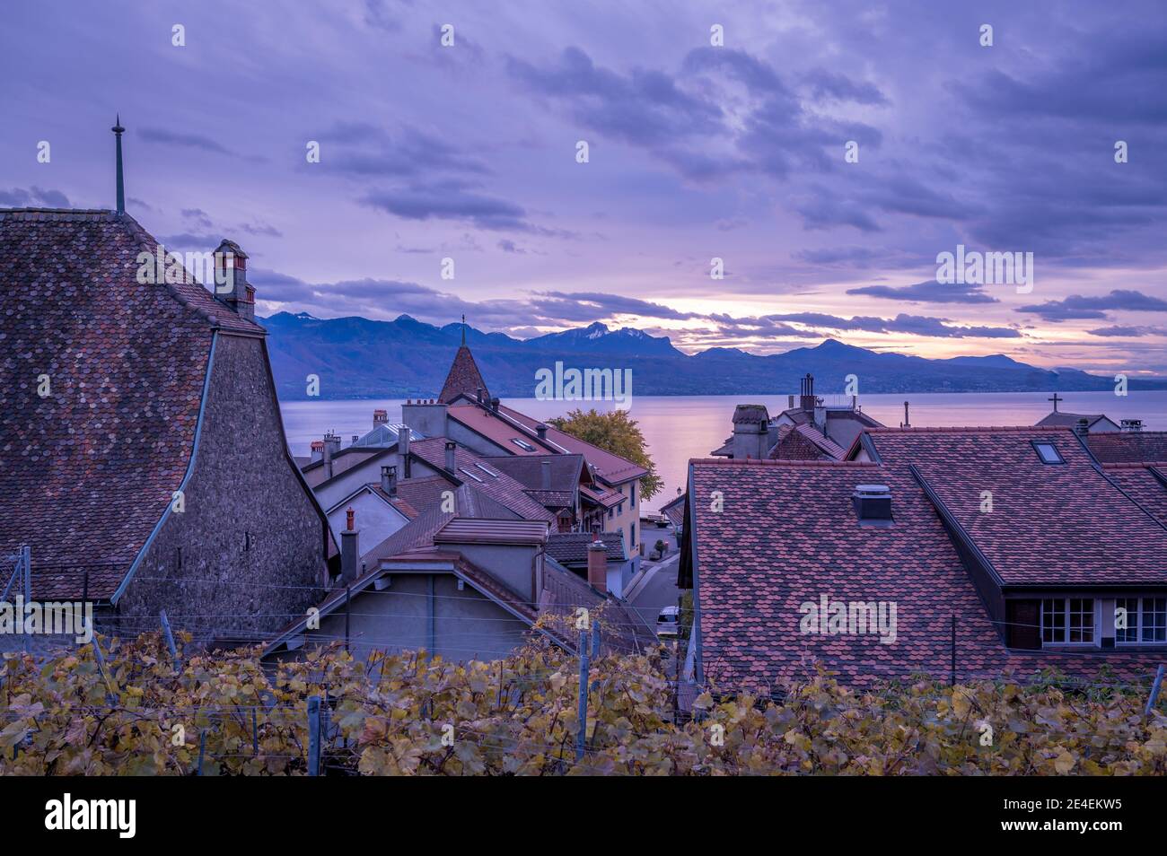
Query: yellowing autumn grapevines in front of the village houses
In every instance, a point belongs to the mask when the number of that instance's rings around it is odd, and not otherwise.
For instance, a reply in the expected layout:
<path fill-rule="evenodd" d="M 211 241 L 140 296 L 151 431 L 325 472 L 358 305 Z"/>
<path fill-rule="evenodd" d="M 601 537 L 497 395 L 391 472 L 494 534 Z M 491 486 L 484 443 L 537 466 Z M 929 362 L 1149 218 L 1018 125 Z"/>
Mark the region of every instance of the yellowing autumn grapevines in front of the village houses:
<path fill-rule="evenodd" d="M 1145 693 L 921 681 L 855 693 L 819 675 L 781 702 L 704 694 L 675 721 L 656 655 L 591 664 L 532 641 L 503 660 L 343 648 L 260 666 L 254 651 L 176 664 L 158 634 L 48 660 L 6 654 L 0 773 L 1114 774 L 1167 773 L 1167 716 Z M 309 715 L 319 699 L 319 724 Z"/>

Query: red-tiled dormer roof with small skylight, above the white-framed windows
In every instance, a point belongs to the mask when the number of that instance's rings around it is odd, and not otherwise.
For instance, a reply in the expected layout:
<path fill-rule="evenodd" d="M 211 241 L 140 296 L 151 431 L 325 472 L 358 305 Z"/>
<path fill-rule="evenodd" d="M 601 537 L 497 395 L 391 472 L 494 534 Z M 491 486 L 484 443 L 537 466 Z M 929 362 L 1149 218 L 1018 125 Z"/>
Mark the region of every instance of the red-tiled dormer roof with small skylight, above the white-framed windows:
<path fill-rule="evenodd" d="M 915 468 L 1005 585 L 1167 584 L 1167 529 L 1106 479 L 1069 428 L 875 428 L 868 436 L 889 468 Z M 1042 463 L 1035 441 L 1053 444 L 1064 463 Z"/>

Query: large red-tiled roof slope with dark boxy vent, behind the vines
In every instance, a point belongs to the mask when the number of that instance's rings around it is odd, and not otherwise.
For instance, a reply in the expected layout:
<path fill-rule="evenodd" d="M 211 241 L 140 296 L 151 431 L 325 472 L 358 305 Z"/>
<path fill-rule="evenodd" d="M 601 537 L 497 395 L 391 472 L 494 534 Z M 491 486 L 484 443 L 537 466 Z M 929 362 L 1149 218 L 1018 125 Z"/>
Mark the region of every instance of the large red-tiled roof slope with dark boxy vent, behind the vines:
<path fill-rule="evenodd" d="M 1095 675 L 1153 671 L 1161 653 L 1068 657 L 1005 648 L 952 541 L 907 466 L 857 462 L 692 461 L 690 491 L 721 492 L 720 506 L 693 503 L 701 661 L 722 688 L 768 692 L 812 675 L 823 662 L 848 683 L 928 674 L 946 680 L 956 619 L 957 679 L 1019 678 L 1056 666 Z M 892 490 L 894 525 L 860 526 L 859 484 Z M 720 507 L 720 511 L 715 511 Z M 802 632 L 803 604 L 896 605 L 896 638 Z"/>

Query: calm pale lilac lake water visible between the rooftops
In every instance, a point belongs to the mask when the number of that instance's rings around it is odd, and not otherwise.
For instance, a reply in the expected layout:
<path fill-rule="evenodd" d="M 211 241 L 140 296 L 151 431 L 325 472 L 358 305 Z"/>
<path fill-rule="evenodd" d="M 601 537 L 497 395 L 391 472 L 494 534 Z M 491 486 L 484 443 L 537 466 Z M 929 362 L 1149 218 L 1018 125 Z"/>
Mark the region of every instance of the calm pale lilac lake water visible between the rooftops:
<path fill-rule="evenodd" d="M 903 401 L 911 402 L 914 426 L 1006 426 L 1033 425 L 1050 411 L 1049 393 L 910 393 L 864 395 L 864 412 L 887 426 L 903 420 Z M 1134 391 L 1121 398 L 1110 392 L 1070 392 L 1058 409 L 1071 413 L 1105 413 L 1118 422 L 1141 419 L 1147 430 L 1167 430 L 1167 391 Z M 664 490 L 649 500 L 656 511 L 677 496 L 685 484 L 691 457 L 705 457 L 732 433 L 731 419 L 739 402 L 763 404 L 770 413 L 787 408 L 785 395 L 644 395 L 635 397 L 630 415 L 648 441 L 649 455 L 664 479 Z M 401 399 L 348 401 L 287 401 L 281 406 L 288 443 L 296 455 L 308 455 L 308 444 L 326 430 L 335 431 L 348 445 L 354 434 L 372 428 L 372 412 L 389 412 L 390 422 L 401 420 Z M 561 415 L 575 405 L 609 409 L 603 401 L 539 401 L 503 399 L 503 404 L 536 419 Z M 843 399 L 826 397 L 826 404 Z"/>

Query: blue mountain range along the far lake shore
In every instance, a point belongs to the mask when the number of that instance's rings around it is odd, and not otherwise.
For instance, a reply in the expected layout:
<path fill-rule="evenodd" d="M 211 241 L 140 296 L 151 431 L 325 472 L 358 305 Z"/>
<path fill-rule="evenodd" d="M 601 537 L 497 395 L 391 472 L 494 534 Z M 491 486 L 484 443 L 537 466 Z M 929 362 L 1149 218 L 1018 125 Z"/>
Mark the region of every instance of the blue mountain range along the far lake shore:
<path fill-rule="evenodd" d="M 260 321 L 270 334 L 272 369 L 284 400 L 306 398 L 308 374 L 320 376 L 321 398 L 435 397 L 462 336 L 461 324 L 434 327 L 408 315 L 370 321 L 279 313 Z M 575 369 L 631 369 L 634 395 L 791 393 L 806 372 L 815 376 L 819 394 L 841 393 L 847 374 L 859 376 L 864 393 L 1113 388 L 1109 377 L 1037 369 L 1004 355 L 924 359 L 834 339 L 760 357 L 731 348 L 690 356 L 666 336 L 609 330 L 601 323 L 532 339 L 473 328 L 466 336 L 490 392 L 512 398 L 532 397 L 534 372 L 553 367 L 555 360 Z M 1167 379 L 1132 381 L 1131 387 L 1162 390 Z"/>

